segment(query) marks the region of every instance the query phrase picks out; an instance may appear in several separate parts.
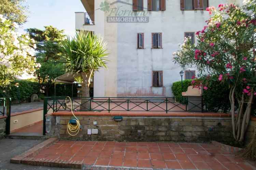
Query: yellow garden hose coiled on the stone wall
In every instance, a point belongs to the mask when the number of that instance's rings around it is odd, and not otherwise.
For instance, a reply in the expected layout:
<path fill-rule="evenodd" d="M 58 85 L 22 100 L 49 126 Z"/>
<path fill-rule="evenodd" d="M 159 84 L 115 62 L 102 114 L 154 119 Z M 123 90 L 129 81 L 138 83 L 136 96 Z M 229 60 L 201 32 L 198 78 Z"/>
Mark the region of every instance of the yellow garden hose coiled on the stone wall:
<path fill-rule="evenodd" d="M 71 120 L 74 120 L 75 122 L 76 122 L 76 125 L 74 125 L 74 123 L 72 124 L 72 123 L 70 123 L 70 121 L 68 122 L 68 125 L 67 125 L 67 131 L 68 131 L 68 134 L 70 135 L 70 136 L 75 136 L 75 135 L 77 135 L 78 133 L 79 133 L 79 131 L 80 131 L 80 121 L 79 121 L 79 119 L 74 115 L 74 113 L 73 113 L 73 103 L 72 103 L 72 100 L 71 100 L 71 98 L 69 97 L 69 96 L 67 96 L 66 97 L 66 99 L 65 99 L 65 102 L 66 102 L 66 104 L 67 104 L 67 98 L 69 98 L 69 100 L 70 100 L 70 102 L 71 102 L 71 108 L 69 108 L 69 109 L 71 109 L 71 113 L 73 114 L 73 116 L 75 117 L 75 119 L 71 119 Z M 71 134 L 71 133 L 73 133 L 73 134 Z"/>

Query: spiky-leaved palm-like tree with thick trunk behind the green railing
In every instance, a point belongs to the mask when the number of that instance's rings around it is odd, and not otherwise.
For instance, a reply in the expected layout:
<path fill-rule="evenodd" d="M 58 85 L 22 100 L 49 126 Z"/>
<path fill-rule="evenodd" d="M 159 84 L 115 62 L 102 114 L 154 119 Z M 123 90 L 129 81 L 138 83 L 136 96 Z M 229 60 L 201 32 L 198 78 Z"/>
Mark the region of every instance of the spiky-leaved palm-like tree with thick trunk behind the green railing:
<path fill-rule="evenodd" d="M 86 30 L 77 31 L 74 38 L 68 37 L 61 44 L 68 71 L 80 74 L 83 80 L 82 97 L 90 97 L 90 80 L 94 72 L 106 68 L 106 44 L 101 37 Z M 88 99 L 83 99 L 82 103 L 81 109 L 89 109 Z"/>

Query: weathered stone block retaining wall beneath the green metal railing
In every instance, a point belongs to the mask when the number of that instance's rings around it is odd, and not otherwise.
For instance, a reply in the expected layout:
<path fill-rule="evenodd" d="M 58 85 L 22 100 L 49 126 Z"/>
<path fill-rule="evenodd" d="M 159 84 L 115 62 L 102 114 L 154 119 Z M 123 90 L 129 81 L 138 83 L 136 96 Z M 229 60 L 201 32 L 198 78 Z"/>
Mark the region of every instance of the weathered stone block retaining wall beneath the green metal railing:
<path fill-rule="evenodd" d="M 46 117 L 48 137 L 80 140 L 116 141 L 188 141 L 202 142 L 232 137 L 231 119 L 226 118 L 155 118 L 150 116 L 128 117 L 116 122 L 113 116 L 77 116 L 82 130 L 77 136 L 67 133 L 67 123 L 71 116 Z M 129 119 L 126 119 L 129 118 Z M 93 122 L 97 121 L 97 125 Z M 87 135 L 87 129 L 98 129 L 99 133 Z"/>

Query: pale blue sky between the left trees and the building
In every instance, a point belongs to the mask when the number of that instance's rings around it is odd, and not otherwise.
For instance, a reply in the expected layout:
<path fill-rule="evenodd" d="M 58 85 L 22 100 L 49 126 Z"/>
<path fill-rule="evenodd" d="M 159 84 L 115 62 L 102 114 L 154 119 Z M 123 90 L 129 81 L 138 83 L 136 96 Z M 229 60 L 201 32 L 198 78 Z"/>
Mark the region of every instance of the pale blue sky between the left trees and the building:
<path fill-rule="evenodd" d="M 75 12 L 85 12 L 80 0 L 27 0 L 29 5 L 28 21 L 19 32 L 27 28 L 44 29 L 52 25 L 64 29 L 66 35 L 74 36 Z"/>

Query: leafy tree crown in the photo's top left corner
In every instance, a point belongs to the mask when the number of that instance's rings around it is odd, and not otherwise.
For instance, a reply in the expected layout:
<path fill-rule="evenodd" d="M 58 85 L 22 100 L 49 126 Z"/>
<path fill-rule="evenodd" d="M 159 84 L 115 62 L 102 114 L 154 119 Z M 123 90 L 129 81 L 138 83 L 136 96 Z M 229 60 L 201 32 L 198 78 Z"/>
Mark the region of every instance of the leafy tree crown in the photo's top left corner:
<path fill-rule="evenodd" d="M 27 21 L 28 6 L 25 2 L 25 0 L 1 0 L 0 14 L 21 25 Z"/>

